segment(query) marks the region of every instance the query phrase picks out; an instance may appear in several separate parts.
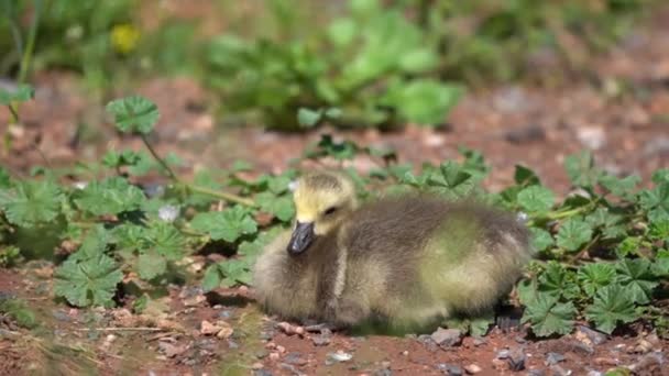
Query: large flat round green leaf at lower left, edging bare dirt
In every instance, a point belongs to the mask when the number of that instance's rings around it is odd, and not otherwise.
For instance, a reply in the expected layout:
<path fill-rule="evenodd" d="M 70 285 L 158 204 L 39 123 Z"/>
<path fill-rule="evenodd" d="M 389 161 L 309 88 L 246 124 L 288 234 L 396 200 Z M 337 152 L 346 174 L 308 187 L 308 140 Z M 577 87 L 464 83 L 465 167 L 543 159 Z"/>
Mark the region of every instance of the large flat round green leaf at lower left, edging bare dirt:
<path fill-rule="evenodd" d="M 69 257 L 54 274 L 54 292 L 76 307 L 113 306 L 123 274 L 111 257 Z"/>

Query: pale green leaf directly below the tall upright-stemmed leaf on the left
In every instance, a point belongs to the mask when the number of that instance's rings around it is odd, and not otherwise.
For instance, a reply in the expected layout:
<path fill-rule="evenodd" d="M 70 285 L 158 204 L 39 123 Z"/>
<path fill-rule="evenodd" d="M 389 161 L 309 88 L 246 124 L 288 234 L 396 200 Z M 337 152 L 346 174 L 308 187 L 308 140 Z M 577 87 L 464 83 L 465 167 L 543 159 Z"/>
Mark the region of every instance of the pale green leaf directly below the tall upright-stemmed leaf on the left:
<path fill-rule="evenodd" d="M 146 199 L 144 192 L 121 177 L 91 181 L 75 195 L 75 203 L 94 215 L 133 211 Z"/>

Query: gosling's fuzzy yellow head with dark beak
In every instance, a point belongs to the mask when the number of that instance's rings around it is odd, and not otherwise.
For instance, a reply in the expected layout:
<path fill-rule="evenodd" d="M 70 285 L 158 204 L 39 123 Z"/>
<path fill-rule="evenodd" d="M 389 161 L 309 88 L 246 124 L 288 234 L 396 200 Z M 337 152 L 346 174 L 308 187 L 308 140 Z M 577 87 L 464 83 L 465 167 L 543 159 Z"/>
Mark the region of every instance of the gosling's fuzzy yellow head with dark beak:
<path fill-rule="evenodd" d="M 317 172 L 301 176 L 293 192 L 296 223 L 288 253 L 305 252 L 316 236 L 328 233 L 355 209 L 355 187 L 346 176 Z"/>

